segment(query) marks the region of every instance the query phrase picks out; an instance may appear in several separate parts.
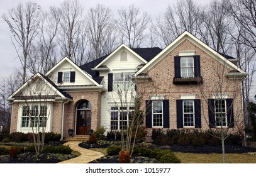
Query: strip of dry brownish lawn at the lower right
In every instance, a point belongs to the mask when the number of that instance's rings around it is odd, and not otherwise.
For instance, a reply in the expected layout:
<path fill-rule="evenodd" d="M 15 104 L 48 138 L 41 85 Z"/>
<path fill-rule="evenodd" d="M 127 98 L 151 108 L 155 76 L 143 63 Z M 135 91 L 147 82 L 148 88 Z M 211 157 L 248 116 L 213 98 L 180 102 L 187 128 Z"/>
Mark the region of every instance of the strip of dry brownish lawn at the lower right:
<path fill-rule="evenodd" d="M 175 155 L 181 159 L 181 163 L 222 163 L 222 154 L 219 153 L 175 152 Z M 226 163 L 256 163 L 256 155 L 227 153 Z"/>

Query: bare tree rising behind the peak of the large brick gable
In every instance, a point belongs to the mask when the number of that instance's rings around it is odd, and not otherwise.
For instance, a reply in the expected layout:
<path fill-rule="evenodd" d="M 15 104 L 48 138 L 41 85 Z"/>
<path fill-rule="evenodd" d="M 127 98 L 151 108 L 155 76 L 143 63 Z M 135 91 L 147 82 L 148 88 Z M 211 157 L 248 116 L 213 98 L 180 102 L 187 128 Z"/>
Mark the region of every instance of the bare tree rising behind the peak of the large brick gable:
<path fill-rule="evenodd" d="M 164 16 L 159 16 L 155 24 L 151 26 L 155 45 L 162 48 L 170 44 L 184 31 L 189 31 L 192 35 L 198 35 L 201 28 L 201 8 L 192 0 L 177 1 L 174 6 L 168 6 Z"/>

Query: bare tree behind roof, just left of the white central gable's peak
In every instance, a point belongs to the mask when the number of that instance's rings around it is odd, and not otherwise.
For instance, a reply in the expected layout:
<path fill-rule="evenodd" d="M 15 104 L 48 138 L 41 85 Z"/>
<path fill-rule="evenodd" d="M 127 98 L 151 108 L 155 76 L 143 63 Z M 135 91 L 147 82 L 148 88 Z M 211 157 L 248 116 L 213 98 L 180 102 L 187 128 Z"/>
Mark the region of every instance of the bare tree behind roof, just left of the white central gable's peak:
<path fill-rule="evenodd" d="M 94 55 L 92 59 L 99 58 L 103 56 L 104 48 L 106 48 L 108 42 L 115 40 L 113 37 L 108 38 L 108 36 L 114 33 L 111 9 L 97 4 L 95 8 L 89 9 L 85 22 L 92 48 L 91 52 Z M 110 46 L 111 44 L 109 43 Z"/>

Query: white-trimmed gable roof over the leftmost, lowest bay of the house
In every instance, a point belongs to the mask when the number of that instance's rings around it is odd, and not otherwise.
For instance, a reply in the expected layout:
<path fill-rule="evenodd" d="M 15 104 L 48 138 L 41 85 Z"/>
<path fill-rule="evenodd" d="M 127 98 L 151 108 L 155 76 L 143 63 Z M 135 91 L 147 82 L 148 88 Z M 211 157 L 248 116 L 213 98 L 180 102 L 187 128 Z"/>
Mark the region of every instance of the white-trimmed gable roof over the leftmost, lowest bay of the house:
<path fill-rule="evenodd" d="M 64 99 L 73 99 L 72 96 L 70 96 L 69 94 L 61 91 L 60 89 L 58 89 L 57 85 L 55 85 L 52 80 L 48 79 L 48 77 L 46 77 L 43 74 L 40 74 L 39 72 L 36 73 L 35 75 L 33 75 L 27 82 L 25 82 L 25 84 L 21 85 L 21 87 L 19 87 L 19 89 L 17 89 L 15 92 L 13 92 L 13 94 L 11 94 L 11 96 L 8 97 L 9 101 L 12 101 L 14 98 L 16 99 L 32 99 L 33 96 L 16 96 L 16 94 L 18 94 L 18 92 L 20 92 L 22 89 L 25 89 L 26 85 L 28 85 L 33 79 L 35 79 L 36 77 L 40 77 L 41 79 L 45 80 L 45 82 L 47 83 L 47 85 L 49 87 L 51 87 L 53 89 L 53 91 L 55 91 L 58 96 L 64 98 Z M 36 97 L 36 96 L 35 96 Z M 35 99 L 34 97 L 34 99 Z M 47 98 L 49 99 L 53 99 L 57 96 L 47 96 Z"/>

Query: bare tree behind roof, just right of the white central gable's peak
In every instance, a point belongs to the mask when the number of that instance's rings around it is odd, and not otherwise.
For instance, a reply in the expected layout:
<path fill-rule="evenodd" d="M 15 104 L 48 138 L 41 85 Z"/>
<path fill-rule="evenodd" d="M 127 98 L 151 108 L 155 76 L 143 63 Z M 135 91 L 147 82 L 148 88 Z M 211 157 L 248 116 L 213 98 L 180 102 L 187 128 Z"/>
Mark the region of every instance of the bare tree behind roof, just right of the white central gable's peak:
<path fill-rule="evenodd" d="M 146 30 L 151 21 L 147 12 L 140 13 L 140 9 L 131 5 L 128 9 L 118 10 L 119 18 L 117 27 L 121 35 L 121 41 L 130 48 L 142 47 L 147 39 Z"/>

